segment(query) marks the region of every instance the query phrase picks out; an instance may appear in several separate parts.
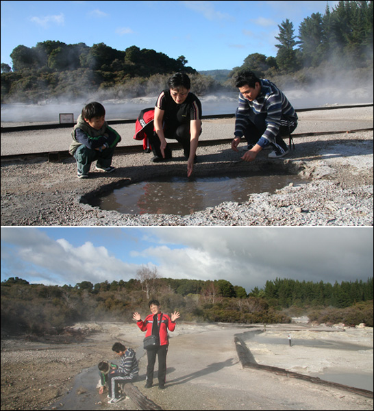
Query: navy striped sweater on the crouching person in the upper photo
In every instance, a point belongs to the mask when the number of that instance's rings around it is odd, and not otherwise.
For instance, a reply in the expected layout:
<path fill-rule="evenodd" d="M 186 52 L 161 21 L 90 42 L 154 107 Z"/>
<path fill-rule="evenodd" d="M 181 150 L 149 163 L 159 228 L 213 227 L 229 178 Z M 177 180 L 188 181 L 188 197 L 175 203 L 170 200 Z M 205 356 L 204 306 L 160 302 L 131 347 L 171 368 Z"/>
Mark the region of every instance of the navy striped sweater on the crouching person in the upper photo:
<path fill-rule="evenodd" d="M 297 124 L 297 114 L 275 84 L 266 79 L 261 79 L 261 90 L 257 99 L 249 101 L 239 93 L 238 110 L 236 112 L 235 136 L 242 137 L 248 119 L 254 122 L 255 116 L 266 116 L 266 130 L 262 138 L 275 142 L 281 125 L 291 126 Z"/>

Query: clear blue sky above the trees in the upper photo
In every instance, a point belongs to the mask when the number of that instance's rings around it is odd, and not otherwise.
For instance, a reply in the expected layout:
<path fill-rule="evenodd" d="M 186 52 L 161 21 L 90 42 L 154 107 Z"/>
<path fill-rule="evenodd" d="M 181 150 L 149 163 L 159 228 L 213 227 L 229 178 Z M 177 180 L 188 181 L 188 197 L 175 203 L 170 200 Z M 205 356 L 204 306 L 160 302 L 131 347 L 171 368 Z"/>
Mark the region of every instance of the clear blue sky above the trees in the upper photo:
<path fill-rule="evenodd" d="M 328 1 L 332 8 L 338 1 Z M 277 53 L 278 25 L 295 27 L 327 1 L 1 1 L 1 62 L 18 45 L 45 40 L 118 50 L 136 45 L 198 71 L 232 69 L 247 55 Z"/>

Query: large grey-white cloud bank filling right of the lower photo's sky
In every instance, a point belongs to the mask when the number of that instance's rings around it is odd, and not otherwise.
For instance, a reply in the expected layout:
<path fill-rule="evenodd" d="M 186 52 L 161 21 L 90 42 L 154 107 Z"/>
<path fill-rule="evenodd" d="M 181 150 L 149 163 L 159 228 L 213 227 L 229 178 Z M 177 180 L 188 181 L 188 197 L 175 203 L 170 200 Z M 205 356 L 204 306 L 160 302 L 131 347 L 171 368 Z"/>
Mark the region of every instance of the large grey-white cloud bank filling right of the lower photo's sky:
<path fill-rule="evenodd" d="M 248 292 L 276 277 L 334 284 L 366 279 L 373 269 L 370 230 L 184 227 L 153 234 L 170 245 L 143 251 L 158 258 L 162 276 L 223 278 Z"/>

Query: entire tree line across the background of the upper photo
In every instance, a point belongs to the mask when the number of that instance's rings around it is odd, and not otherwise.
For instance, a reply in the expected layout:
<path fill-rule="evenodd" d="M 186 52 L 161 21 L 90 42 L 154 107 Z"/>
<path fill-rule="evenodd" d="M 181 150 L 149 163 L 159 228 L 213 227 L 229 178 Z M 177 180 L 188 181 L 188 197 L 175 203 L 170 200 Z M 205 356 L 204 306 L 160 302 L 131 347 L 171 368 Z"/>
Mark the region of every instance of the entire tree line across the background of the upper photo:
<path fill-rule="evenodd" d="M 278 26 L 275 57 L 251 53 L 236 67 L 227 82 L 199 75 L 186 66 L 184 55 L 169 58 L 152 49 L 133 45 L 124 51 L 99 43 L 66 45 L 47 40 L 35 47 L 18 45 L 11 53 L 12 67 L 1 64 L 1 102 L 38 102 L 68 95 L 86 97 L 92 93 L 104 99 L 139 97 L 160 92 L 171 73 L 186 71 L 195 76 L 194 92 L 233 90 L 232 78 L 239 69 L 249 68 L 261 77 L 280 75 L 310 82 L 317 68 L 330 71 L 373 70 L 373 1 L 339 1 L 325 14 L 313 13 L 299 25 L 299 35 L 289 19 Z M 301 73 L 299 73 L 301 71 Z"/>

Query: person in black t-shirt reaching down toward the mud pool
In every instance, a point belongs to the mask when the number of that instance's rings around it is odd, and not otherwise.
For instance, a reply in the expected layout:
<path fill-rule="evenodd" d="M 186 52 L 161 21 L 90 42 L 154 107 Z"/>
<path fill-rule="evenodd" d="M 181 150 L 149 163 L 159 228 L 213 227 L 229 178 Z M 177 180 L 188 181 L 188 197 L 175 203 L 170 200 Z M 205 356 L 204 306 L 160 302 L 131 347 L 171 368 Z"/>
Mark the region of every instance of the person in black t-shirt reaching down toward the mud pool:
<path fill-rule="evenodd" d="M 169 90 L 160 93 L 155 105 L 155 132 L 149 138 L 155 154 L 152 161 L 160 162 L 171 158 L 166 138 L 173 138 L 184 149 L 189 177 L 201 134 L 201 102 L 190 92 L 190 79 L 185 73 L 173 75 L 168 85 Z"/>

